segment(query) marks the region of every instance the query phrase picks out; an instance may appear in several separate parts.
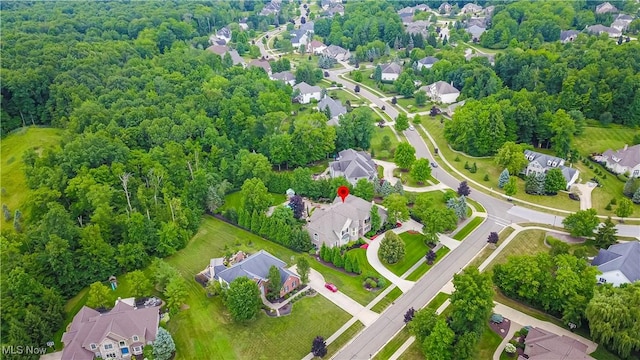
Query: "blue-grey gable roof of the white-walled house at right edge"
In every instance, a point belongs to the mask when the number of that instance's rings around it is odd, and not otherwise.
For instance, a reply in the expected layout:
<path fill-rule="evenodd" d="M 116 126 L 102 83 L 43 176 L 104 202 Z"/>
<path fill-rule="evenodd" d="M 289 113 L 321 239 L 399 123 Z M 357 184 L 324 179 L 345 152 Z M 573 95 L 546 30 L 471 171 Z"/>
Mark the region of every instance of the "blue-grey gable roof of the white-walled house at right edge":
<path fill-rule="evenodd" d="M 619 270 L 629 281 L 640 280 L 640 242 L 630 241 L 600 249 L 591 265 L 604 272 Z"/>

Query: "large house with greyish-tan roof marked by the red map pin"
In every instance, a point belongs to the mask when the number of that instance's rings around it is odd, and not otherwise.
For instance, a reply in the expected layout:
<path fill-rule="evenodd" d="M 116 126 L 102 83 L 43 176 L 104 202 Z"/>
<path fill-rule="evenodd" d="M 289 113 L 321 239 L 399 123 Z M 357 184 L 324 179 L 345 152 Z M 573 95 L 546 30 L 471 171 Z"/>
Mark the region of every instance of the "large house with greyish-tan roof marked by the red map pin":
<path fill-rule="evenodd" d="M 315 209 L 307 223 L 311 243 L 320 248 L 322 244 L 333 247 L 358 240 L 371 230 L 372 206 L 378 209 L 384 223 L 386 211 L 354 195 L 347 196 L 344 202 L 336 197 L 330 206 Z"/>

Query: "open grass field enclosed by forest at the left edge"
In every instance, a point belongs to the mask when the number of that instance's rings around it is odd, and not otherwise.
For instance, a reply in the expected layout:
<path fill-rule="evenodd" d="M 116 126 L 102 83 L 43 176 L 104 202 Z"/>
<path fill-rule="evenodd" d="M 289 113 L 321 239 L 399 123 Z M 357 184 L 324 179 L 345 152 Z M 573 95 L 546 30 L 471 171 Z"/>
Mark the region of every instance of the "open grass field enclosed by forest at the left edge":
<path fill-rule="evenodd" d="M 60 129 L 29 127 L 19 129 L 2 139 L 0 145 L 0 153 L 2 154 L 0 203 L 7 204 L 12 214 L 16 210 L 25 213 L 25 200 L 29 196 L 22 155 L 31 148 L 38 153 L 44 149 L 53 148 L 58 145 L 61 136 L 62 130 Z"/>

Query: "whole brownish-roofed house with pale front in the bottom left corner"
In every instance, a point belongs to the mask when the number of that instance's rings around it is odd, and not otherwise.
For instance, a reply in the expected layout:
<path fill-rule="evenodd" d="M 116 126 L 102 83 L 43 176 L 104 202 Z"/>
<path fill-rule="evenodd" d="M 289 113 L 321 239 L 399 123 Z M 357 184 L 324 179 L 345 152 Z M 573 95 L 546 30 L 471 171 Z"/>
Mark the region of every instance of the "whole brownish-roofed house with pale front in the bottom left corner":
<path fill-rule="evenodd" d="M 157 306 L 137 308 L 133 298 L 105 313 L 83 306 L 62 335 L 62 359 L 131 359 L 153 343 L 159 322 Z"/>

